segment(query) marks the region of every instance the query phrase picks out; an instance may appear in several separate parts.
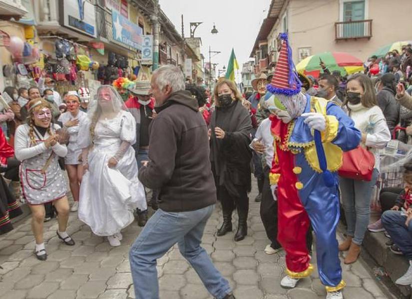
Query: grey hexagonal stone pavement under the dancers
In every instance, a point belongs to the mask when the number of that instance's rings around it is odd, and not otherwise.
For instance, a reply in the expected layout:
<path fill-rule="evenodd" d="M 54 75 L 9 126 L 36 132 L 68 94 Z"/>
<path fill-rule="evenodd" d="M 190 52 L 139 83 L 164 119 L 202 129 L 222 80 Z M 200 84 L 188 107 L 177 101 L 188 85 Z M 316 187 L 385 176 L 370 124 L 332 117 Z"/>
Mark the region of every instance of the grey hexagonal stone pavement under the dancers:
<path fill-rule="evenodd" d="M 250 198 L 255 196 L 252 191 Z M 203 246 L 229 280 L 237 299 L 325 298 L 325 289 L 316 270 L 294 290 L 280 287 L 285 253 L 268 256 L 263 252 L 269 242 L 260 220 L 259 203 L 250 201 L 248 236 L 241 242 L 233 241 L 233 233 L 215 236 L 221 223 L 220 215 L 217 207 L 206 226 Z M 117 248 L 94 236 L 87 225 L 77 219 L 76 213 L 70 214 L 68 228 L 76 241 L 75 246 L 63 245 L 56 237 L 56 229 L 55 219 L 44 225 L 46 262 L 38 261 L 32 254 L 34 239 L 29 218 L 0 236 L 1 299 L 134 298 L 128 250 L 141 230 L 136 222 L 123 230 L 122 245 Z M 388 298 L 362 261 L 351 266 L 342 265 L 348 284 L 344 291 L 346 299 Z M 212 298 L 176 246 L 158 260 L 157 268 L 161 299 Z"/>

